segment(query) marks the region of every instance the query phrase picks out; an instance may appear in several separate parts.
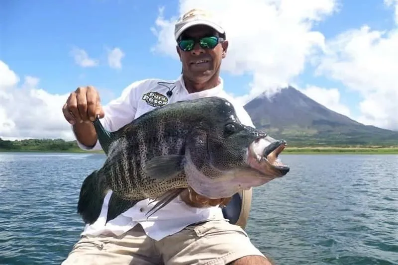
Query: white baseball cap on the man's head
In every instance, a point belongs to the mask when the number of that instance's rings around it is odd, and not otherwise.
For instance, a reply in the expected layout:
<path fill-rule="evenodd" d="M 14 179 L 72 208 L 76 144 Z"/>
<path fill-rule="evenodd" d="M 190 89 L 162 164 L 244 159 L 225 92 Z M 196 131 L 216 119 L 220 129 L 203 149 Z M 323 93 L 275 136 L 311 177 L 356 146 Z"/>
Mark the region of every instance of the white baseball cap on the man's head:
<path fill-rule="evenodd" d="M 221 34 L 225 34 L 225 30 L 222 28 L 220 23 L 210 14 L 210 12 L 203 9 L 194 8 L 185 12 L 176 22 L 174 28 L 174 37 L 176 41 L 187 28 L 195 25 L 206 25 L 212 27 Z"/>

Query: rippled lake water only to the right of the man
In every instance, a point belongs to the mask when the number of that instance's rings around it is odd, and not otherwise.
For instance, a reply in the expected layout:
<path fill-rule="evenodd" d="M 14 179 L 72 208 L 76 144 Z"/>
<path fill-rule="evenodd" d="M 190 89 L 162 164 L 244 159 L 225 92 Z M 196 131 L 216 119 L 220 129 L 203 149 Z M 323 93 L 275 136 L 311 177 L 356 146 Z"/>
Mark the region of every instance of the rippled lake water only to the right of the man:
<path fill-rule="evenodd" d="M 261 251 L 278 264 L 398 264 L 397 156 L 283 160 L 289 176 L 254 189 L 248 231 Z"/>

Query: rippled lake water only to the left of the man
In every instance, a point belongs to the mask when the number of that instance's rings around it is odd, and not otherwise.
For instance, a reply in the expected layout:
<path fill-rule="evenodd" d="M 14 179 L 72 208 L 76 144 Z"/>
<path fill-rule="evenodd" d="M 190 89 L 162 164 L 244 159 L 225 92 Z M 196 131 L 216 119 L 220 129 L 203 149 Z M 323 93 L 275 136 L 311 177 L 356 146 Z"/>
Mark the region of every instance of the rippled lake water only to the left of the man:
<path fill-rule="evenodd" d="M 0 154 L 0 264 L 65 259 L 83 229 L 80 185 L 103 162 L 92 156 Z"/>

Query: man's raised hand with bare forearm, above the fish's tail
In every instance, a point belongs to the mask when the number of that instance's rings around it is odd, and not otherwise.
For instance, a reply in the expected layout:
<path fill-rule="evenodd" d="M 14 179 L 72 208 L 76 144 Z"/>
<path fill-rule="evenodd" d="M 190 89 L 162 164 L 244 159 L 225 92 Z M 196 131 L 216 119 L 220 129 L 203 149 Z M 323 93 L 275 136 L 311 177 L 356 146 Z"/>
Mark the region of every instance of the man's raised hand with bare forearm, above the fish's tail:
<path fill-rule="evenodd" d="M 100 95 L 96 88 L 79 87 L 73 91 L 62 107 L 65 119 L 73 125 L 76 139 L 85 146 L 93 147 L 97 133 L 91 121 L 104 117 Z"/>

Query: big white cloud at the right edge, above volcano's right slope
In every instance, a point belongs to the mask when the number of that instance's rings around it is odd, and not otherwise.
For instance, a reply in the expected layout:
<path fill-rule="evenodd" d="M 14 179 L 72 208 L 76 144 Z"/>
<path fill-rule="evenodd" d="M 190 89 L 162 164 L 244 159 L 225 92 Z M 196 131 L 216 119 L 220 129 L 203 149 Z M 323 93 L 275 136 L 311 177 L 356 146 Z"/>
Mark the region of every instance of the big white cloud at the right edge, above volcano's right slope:
<path fill-rule="evenodd" d="M 359 122 L 398 130 L 397 47 L 398 28 L 364 25 L 328 41 L 316 73 L 361 94 Z"/>

